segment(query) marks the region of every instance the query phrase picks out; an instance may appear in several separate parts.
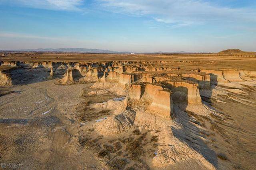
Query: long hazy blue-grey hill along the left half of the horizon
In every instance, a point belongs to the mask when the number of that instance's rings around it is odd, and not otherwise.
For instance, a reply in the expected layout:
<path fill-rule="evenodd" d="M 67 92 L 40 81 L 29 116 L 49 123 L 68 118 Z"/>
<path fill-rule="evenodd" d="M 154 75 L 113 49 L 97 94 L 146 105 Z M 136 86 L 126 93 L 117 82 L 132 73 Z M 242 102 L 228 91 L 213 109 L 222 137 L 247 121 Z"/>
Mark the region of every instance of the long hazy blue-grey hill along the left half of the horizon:
<path fill-rule="evenodd" d="M 2 50 L 3 51 L 3 50 Z M 110 51 L 102 49 L 85 49 L 85 48 L 59 48 L 59 49 L 17 49 L 17 50 L 8 50 L 8 51 L 17 51 L 17 52 L 66 52 L 66 53 L 130 53 L 130 52 L 119 52 L 119 51 Z"/>

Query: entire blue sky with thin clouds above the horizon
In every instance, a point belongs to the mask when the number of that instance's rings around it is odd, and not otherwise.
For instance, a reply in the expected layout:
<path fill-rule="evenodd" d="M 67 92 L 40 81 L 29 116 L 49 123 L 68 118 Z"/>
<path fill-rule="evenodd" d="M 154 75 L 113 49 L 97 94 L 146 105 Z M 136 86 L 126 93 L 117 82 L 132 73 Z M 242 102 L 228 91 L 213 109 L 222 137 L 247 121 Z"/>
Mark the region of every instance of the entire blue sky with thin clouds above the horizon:
<path fill-rule="evenodd" d="M 0 0 L 0 49 L 256 51 L 256 0 Z"/>

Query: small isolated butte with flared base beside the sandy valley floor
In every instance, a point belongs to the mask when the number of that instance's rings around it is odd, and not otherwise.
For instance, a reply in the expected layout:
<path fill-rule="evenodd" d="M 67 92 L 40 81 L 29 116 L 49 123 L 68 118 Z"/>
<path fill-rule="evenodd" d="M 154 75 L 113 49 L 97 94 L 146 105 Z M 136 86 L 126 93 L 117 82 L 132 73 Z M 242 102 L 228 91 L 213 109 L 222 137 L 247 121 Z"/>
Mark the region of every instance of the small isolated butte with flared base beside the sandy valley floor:
<path fill-rule="evenodd" d="M 76 69 L 68 69 L 64 75 L 64 78 L 58 80 L 57 82 L 60 84 L 73 84 L 79 81 L 82 77 L 79 70 Z"/>

